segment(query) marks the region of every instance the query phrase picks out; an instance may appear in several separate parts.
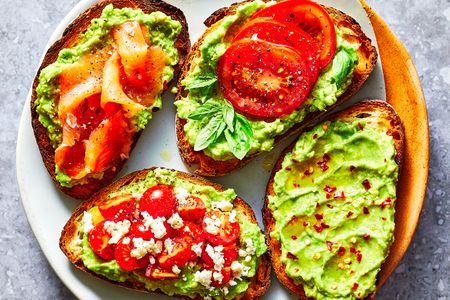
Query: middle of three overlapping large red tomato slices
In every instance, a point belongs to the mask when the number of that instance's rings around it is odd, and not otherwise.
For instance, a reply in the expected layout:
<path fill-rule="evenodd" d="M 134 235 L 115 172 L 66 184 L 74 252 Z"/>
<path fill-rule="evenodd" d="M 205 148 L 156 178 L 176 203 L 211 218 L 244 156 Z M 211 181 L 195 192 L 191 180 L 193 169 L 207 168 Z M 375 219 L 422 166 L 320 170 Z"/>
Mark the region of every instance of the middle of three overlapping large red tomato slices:
<path fill-rule="evenodd" d="M 319 48 L 311 36 L 301 28 L 270 18 L 256 18 L 247 22 L 241 28 L 235 35 L 233 42 L 246 38 L 292 47 L 308 62 L 311 70 L 311 85 L 316 83 L 321 67 L 317 65 Z"/>

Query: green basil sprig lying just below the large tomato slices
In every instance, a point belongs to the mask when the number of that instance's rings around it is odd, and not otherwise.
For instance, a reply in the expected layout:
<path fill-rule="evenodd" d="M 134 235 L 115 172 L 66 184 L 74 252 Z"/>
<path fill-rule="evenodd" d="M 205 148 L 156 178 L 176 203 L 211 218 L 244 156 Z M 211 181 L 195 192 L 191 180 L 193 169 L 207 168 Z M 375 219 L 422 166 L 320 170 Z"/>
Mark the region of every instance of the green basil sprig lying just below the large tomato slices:
<path fill-rule="evenodd" d="M 195 151 L 208 148 L 222 135 L 225 136 L 231 152 L 238 159 L 243 159 L 250 151 L 253 139 L 250 122 L 242 115 L 235 113 L 230 102 L 208 100 L 188 118 L 206 123 L 195 141 Z"/>

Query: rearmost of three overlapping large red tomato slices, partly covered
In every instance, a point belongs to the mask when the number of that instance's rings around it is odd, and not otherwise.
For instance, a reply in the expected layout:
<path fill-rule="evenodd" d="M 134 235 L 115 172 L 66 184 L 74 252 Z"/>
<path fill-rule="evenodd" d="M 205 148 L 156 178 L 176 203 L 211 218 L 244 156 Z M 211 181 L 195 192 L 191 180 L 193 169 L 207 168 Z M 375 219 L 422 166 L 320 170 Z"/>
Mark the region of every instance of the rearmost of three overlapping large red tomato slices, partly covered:
<path fill-rule="evenodd" d="M 333 60 L 336 54 L 334 23 L 320 4 L 308 0 L 287 0 L 260 10 L 252 19 L 261 17 L 291 23 L 306 31 L 319 45 L 322 68 Z"/>

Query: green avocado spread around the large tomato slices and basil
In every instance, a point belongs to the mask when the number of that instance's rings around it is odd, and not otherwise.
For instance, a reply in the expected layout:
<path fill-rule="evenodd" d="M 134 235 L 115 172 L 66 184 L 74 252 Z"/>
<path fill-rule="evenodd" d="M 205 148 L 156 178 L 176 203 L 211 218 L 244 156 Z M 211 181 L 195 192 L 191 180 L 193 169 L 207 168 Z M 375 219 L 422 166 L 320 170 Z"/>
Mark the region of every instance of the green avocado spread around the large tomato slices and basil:
<path fill-rule="evenodd" d="M 202 79 L 209 80 L 204 74 L 217 74 L 218 61 L 230 46 L 230 39 L 227 38 L 228 30 L 233 28 L 232 26 L 235 24 L 243 24 L 256 11 L 271 4 L 272 2 L 265 3 L 257 0 L 241 5 L 235 14 L 223 18 L 217 26 L 214 25 L 214 30 L 205 36 L 200 45 L 201 55 L 194 58 L 189 74 L 182 81 L 182 85 L 185 87 L 192 86 L 193 83 L 197 84 Z M 330 65 L 322 70 L 309 98 L 299 109 L 273 122 L 248 120 L 253 130 L 250 154 L 270 151 L 277 136 L 287 132 L 295 124 L 302 122 L 309 113 L 326 110 L 336 103 L 337 98 L 346 91 L 358 63 L 356 50 L 359 45 L 345 41 L 342 38 L 342 31 L 338 28 L 336 28 L 336 35 L 336 55 Z M 200 107 L 205 99 L 225 101 L 217 86 L 218 84 L 215 83 L 212 89 L 190 89 L 184 98 L 175 102 L 178 116 L 187 120 L 184 132 L 191 145 L 195 144 L 201 129 L 205 127 L 205 123 L 202 120 L 189 119 L 189 115 Z M 204 151 L 206 155 L 215 160 L 227 160 L 234 157 L 224 136 L 218 138 Z"/>

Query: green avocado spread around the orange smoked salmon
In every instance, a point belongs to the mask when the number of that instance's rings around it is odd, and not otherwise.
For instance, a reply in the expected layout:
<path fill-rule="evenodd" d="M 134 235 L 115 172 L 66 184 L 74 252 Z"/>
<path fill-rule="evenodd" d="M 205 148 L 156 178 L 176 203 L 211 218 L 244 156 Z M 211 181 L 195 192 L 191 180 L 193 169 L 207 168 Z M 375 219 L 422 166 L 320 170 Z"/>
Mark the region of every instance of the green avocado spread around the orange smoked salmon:
<path fill-rule="evenodd" d="M 174 45 L 181 32 L 181 23 L 159 11 L 145 14 L 138 9 L 115 9 L 111 4 L 106 6 L 102 15 L 93 19 L 87 30 L 80 35 L 77 44 L 72 48 L 61 50 L 56 61 L 45 67 L 39 74 L 34 105 L 39 115 L 39 122 L 47 129 L 48 137 L 54 148 L 57 148 L 62 140 L 62 127 L 57 108 L 58 75 L 66 67 L 76 63 L 85 53 L 109 45 L 112 42 L 111 29 L 128 20 L 136 20 L 148 27 L 151 44 L 162 48 L 168 57 L 168 64 L 163 69 L 162 80 L 164 82 L 172 80 L 173 66 L 178 63 L 179 59 L 178 50 Z M 153 109 L 161 108 L 161 93 L 157 95 L 151 106 L 133 117 L 132 122 L 136 130 L 144 129 L 152 118 Z M 71 186 L 70 177 L 58 168 L 56 169 L 56 178 L 63 186 Z"/>

